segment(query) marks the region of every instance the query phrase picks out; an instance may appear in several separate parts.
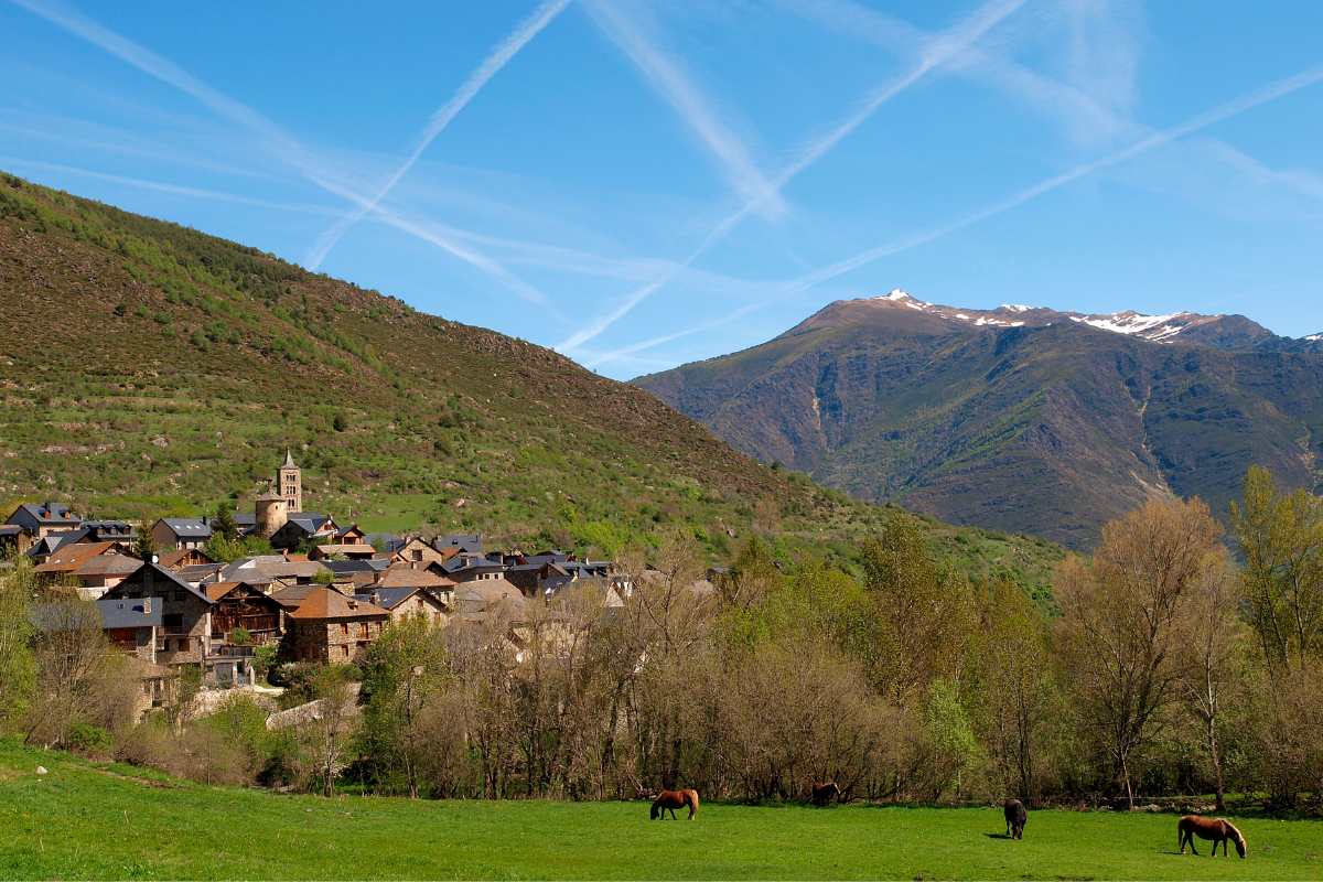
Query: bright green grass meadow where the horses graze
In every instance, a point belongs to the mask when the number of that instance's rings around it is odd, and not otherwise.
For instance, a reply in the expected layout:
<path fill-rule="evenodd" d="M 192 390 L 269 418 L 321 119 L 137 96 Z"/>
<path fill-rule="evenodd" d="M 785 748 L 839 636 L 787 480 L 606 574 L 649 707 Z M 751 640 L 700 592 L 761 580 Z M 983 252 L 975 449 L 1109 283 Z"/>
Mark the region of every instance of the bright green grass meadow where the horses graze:
<path fill-rule="evenodd" d="M 36 775 L 37 764 L 49 774 Z M 996 809 L 324 800 L 181 783 L 0 742 L 0 878 L 1318 879 L 1323 822 L 1244 820 L 1249 860 L 1175 817 Z"/>

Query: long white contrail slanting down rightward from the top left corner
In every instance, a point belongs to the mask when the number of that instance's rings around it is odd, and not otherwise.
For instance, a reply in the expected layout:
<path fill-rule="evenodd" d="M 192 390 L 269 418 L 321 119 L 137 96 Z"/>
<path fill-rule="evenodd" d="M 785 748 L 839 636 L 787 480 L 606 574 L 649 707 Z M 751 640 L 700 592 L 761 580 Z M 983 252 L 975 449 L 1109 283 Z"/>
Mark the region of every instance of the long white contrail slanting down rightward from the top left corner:
<path fill-rule="evenodd" d="M 242 104 L 233 98 L 212 89 L 206 83 L 198 81 L 192 74 L 185 71 L 183 67 L 175 62 L 157 56 L 149 49 L 139 46 L 138 44 L 127 40 L 118 33 L 103 28 L 91 19 L 87 19 L 78 12 L 56 4 L 40 3 L 38 0 L 13 0 L 17 5 L 28 9 L 33 15 L 37 15 L 52 24 L 64 28 L 69 33 L 86 40 L 94 46 L 107 52 L 116 58 L 127 62 L 128 65 L 138 67 L 143 73 L 155 77 L 163 83 L 172 86 L 187 95 L 193 97 L 206 107 L 209 107 L 214 114 L 229 119 L 249 131 L 255 132 L 263 138 L 273 152 L 283 163 L 290 165 L 295 172 L 298 172 L 303 179 L 311 181 L 312 184 L 320 186 L 328 193 L 347 198 L 356 205 L 365 205 L 369 202 L 368 197 L 355 193 L 344 185 L 332 186 L 329 182 L 329 176 L 319 168 L 319 163 L 298 140 L 288 135 L 283 128 L 273 123 L 270 119 L 257 112 L 251 107 Z M 501 267 L 497 262 L 491 258 L 483 257 L 471 249 L 466 249 L 456 242 L 450 241 L 447 237 L 427 233 L 422 234 L 422 227 L 417 223 L 409 222 L 393 213 L 385 210 L 380 205 L 373 209 L 373 213 L 380 217 L 386 223 L 396 226 L 400 230 L 417 235 L 425 242 L 437 245 L 446 253 L 459 258 L 476 267 L 478 270 L 492 276 L 496 282 L 501 283 L 511 291 L 513 291 L 520 298 L 529 300 L 531 303 L 545 304 L 546 298 L 529 286 L 527 282 L 517 279 L 508 270 Z"/>

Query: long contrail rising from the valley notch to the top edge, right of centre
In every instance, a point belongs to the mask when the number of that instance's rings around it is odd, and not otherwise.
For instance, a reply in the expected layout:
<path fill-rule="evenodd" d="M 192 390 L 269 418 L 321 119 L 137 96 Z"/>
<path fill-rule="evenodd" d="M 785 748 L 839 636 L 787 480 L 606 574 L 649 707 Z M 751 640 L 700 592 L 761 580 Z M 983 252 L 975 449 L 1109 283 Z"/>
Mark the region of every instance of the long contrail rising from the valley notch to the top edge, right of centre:
<path fill-rule="evenodd" d="M 800 152 L 799 156 L 787 165 L 781 175 L 771 184 L 771 193 L 777 194 L 779 200 L 781 192 L 802 172 L 810 168 L 814 163 L 826 156 L 836 144 L 844 140 L 851 132 L 859 128 L 869 116 L 877 112 L 877 108 L 885 104 L 888 100 L 900 95 L 902 91 L 916 85 L 923 77 L 926 77 L 933 70 L 951 62 L 966 53 L 970 46 L 972 46 L 978 40 L 983 37 L 988 30 L 991 30 L 998 22 L 1013 13 L 1016 9 L 1023 7 L 1025 0 L 996 0 L 994 3 L 986 4 L 972 16 L 962 21 L 959 25 L 951 30 L 931 37 L 921 54 L 919 62 L 904 75 L 884 83 L 880 89 L 875 90 L 849 116 L 837 123 L 827 134 L 810 141 Z M 730 230 L 738 226 L 750 213 L 755 212 L 761 204 L 761 198 L 757 193 L 750 196 L 740 209 L 725 217 L 720 223 L 717 223 L 708 235 L 699 243 L 693 251 L 689 253 L 683 261 L 675 264 L 665 275 L 631 291 L 624 296 L 624 299 L 617 304 L 617 307 L 606 313 L 605 316 L 598 316 L 589 325 L 579 328 L 573 335 L 566 337 L 564 341 L 556 345 L 560 352 L 568 352 L 576 349 L 589 340 L 593 340 L 602 335 L 607 328 L 614 325 L 617 321 L 627 316 L 634 311 L 640 303 L 647 300 L 650 296 L 656 294 L 659 290 L 669 284 L 675 276 L 691 266 L 695 261 L 708 253 L 708 250 L 717 242 L 729 235 Z"/>

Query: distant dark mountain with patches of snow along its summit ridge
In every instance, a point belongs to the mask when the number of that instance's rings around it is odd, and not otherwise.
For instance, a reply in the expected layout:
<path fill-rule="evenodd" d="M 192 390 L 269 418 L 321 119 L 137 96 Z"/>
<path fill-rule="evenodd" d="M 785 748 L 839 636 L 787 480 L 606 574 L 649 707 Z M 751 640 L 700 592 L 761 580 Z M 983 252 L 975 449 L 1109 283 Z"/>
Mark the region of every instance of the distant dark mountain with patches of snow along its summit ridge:
<path fill-rule="evenodd" d="M 1323 335 L 1240 315 L 967 309 L 893 290 L 634 382 L 857 499 L 1072 547 L 1154 496 L 1225 512 L 1250 464 L 1323 477 Z"/>

